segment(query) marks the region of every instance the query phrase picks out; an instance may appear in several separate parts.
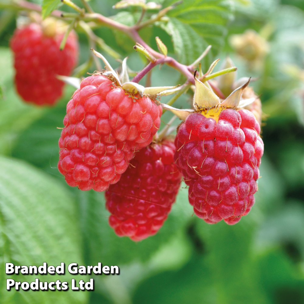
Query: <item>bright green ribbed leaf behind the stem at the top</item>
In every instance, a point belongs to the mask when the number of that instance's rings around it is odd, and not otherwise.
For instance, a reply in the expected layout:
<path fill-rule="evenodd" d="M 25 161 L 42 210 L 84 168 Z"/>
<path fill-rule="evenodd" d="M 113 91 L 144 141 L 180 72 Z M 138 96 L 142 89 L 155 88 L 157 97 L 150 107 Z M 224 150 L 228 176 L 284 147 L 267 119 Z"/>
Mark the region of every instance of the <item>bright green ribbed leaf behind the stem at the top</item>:
<path fill-rule="evenodd" d="M 174 0 L 167 0 L 163 6 L 172 5 Z M 184 2 L 168 12 L 170 17 L 162 28 L 172 36 L 174 50 L 183 64 L 191 64 L 212 45 L 213 56 L 224 43 L 226 26 L 232 18 L 230 3 L 227 1 L 196 0 Z M 207 62 L 211 55 L 207 56 Z M 210 62 L 209 62 L 210 63 Z"/>

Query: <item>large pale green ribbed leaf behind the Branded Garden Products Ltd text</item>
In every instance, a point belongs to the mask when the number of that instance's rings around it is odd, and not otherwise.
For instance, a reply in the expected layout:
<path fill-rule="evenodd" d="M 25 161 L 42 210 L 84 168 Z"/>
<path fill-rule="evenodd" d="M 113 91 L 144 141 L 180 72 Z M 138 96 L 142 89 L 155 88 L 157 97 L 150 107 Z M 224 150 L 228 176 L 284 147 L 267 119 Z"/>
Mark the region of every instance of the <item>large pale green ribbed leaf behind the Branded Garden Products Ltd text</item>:
<path fill-rule="evenodd" d="M 18 160 L 0 157 L 0 298 L 3 304 L 86 303 L 87 294 L 71 291 L 6 290 L 6 279 L 42 282 L 59 279 L 71 286 L 69 263 L 83 264 L 75 202 L 56 181 Z M 5 263 L 57 266 L 65 275 L 5 275 Z"/>

